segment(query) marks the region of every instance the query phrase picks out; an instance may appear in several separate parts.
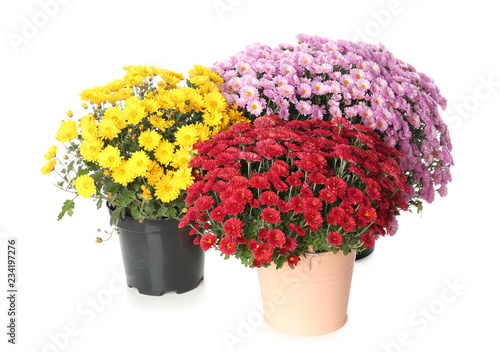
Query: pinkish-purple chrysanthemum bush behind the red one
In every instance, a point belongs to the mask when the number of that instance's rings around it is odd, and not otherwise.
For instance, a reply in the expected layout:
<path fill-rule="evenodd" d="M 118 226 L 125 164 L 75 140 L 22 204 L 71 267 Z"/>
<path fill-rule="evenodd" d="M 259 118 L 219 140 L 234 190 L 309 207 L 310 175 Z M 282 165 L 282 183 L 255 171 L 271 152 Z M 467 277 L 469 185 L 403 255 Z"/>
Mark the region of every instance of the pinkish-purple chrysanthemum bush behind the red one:
<path fill-rule="evenodd" d="M 344 117 L 374 129 L 404 157 L 403 197 L 412 206 L 447 194 L 451 141 L 439 106 L 446 99 L 434 81 L 382 45 L 299 35 L 299 44 L 255 44 L 213 68 L 222 88 L 246 117 L 277 114 L 284 120 Z"/>

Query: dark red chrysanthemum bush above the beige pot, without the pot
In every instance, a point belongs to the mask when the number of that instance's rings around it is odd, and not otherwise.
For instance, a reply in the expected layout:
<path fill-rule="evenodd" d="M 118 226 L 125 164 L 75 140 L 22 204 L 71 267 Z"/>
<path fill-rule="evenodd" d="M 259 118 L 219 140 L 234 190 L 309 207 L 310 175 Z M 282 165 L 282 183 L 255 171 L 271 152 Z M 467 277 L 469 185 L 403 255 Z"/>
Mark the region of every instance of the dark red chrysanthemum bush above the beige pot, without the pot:
<path fill-rule="evenodd" d="M 246 266 L 295 266 L 312 251 L 361 251 L 407 209 L 402 154 L 346 119 L 241 122 L 194 145 L 200 171 L 180 226 Z"/>

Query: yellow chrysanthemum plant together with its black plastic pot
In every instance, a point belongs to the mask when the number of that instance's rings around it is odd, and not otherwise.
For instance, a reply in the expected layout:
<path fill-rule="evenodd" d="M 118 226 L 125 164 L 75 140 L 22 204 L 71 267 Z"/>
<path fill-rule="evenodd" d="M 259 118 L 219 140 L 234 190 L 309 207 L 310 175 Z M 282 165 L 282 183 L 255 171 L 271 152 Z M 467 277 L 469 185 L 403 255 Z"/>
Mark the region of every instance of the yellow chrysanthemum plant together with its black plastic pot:
<path fill-rule="evenodd" d="M 186 189 L 196 175 L 188 166 L 193 144 L 209 140 L 241 113 L 228 107 L 218 74 L 202 66 L 180 73 L 153 66 L 81 93 L 86 114 L 61 123 L 43 174 L 74 194 L 59 214 L 71 216 L 75 198 L 106 203 L 119 229 L 128 285 L 140 293 L 186 292 L 203 278 L 204 252 L 189 228 L 178 227 Z M 244 120 L 244 119 L 243 119 Z M 107 240 L 107 239 L 104 239 Z M 98 237 L 97 242 L 103 239 Z"/>

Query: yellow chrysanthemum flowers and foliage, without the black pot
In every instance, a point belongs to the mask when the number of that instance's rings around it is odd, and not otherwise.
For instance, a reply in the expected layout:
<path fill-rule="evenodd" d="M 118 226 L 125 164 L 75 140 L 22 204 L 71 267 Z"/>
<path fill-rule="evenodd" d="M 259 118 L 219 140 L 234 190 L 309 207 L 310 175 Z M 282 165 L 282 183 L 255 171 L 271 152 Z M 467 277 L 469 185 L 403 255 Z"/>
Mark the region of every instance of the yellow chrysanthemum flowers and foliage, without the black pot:
<path fill-rule="evenodd" d="M 81 93 L 87 113 L 61 123 L 45 158 L 43 174 L 57 173 L 57 186 L 74 193 L 59 214 L 72 215 L 74 200 L 94 198 L 114 209 L 112 220 L 180 218 L 193 144 L 244 121 L 218 85 L 222 79 L 195 65 L 186 85 L 180 73 L 130 66 L 123 79 Z"/>

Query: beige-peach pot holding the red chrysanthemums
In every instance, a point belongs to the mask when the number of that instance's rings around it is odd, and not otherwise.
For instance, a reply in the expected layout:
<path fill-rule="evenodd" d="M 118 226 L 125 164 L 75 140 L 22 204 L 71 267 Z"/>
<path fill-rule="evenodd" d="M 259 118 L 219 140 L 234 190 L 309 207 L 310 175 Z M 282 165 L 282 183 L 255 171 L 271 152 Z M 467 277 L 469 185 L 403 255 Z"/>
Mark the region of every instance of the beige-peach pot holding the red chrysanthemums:
<path fill-rule="evenodd" d="M 274 329 L 313 336 L 340 329 L 347 320 L 356 253 L 311 253 L 295 269 L 257 269 L 264 319 Z"/>

